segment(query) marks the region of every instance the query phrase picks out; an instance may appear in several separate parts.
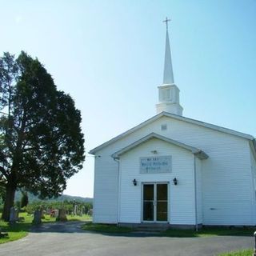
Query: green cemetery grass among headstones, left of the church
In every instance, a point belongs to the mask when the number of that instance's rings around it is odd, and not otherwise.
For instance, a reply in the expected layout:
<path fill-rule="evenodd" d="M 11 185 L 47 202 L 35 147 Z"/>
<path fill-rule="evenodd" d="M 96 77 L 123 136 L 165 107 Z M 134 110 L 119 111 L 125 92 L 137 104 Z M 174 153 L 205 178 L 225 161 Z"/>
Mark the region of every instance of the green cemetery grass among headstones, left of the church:
<path fill-rule="evenodd" d="M 11 242 L 18 240 L 20 238 L 26 237 L 28 234 L 30 227 L 33 225 L 33 215 L 27 213 L 20 213 L 19 217 L 23 217 L 24 221 L 17 222 L 15 224 L 10 225 L 9 222 L 3 222 L 0 219 L 0 229 L 2 233 L 8 233 L 8 238 L 0 238 L 0 244 L 4 242 Z M 67 215 L 68 221 L 87 221 L 90 220 L 90 216 L 82 215 L 82 216 L 71 216 Z M 56 218 L 50 218 L 50 215 L 45 214 L 45 218 L 42 218 L 42 223 L 47 222 L 55 222 Z"/>

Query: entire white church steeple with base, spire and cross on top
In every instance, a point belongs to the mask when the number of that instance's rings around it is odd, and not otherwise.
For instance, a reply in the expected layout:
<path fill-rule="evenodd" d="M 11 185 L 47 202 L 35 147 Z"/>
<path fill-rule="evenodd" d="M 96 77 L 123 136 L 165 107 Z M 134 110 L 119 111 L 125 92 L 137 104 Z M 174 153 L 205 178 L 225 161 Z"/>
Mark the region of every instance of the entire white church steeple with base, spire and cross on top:
<path fill-rule="evenodd" d="M 182 106 L 179 105 L 178 86 L 174 84 L 174 73 L 170 54 L 170 42 L 168 34 L 168 22 L 170 22 L 170 19 L 166 18 L 166 20 L 163 22 L 166 22 L 166 51 L 163 82 L 162 86 L 158 86 L 159 103 L 156 105 L 157 113 L 165 111 L 172 114 L 182 115 L 183 109 Z"/>

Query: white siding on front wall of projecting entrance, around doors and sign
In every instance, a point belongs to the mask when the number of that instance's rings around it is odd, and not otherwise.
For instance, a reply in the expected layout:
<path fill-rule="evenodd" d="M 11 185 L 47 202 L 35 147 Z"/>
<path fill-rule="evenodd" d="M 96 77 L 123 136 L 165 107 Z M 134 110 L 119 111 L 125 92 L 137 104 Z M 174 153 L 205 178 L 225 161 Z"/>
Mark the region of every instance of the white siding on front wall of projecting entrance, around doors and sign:
<path fill-rule="evenodd" d="M 172 171 L 166 174 L 140 174 L 140 157 L 171 155 Z M 169 222 L 172 224 L 194 224 L 193 154 L 179 146 L 159 139 L 150 139 L 120 158 L 120 216 L 119 222 L 142 222 L 142 183 L 169 183 Z M 174 186 L 173 179 L 178 179 Z M 138 181 L 134 186 L 133 179 Z"/>

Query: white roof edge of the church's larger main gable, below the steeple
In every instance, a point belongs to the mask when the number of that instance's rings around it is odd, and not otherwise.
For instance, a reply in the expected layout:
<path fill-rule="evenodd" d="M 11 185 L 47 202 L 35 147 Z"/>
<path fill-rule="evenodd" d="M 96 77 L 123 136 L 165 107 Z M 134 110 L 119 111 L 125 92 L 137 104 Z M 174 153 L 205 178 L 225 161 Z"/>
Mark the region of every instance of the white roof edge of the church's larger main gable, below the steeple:
<path fill-rule="evenodd" d="M 169 117 L 169 118 L 174 118 L 176 120 L 183 121 L 183 122 L 189 122 L 189 123 L 192 123 L 192 124 L 195 124 L 195 125 L 198 125 L 198 126 L 203 126 L 203 127 L 206 127 L 206 128 L 212 129 L 212 130 L 218 130 L 222 133 L 232 134 L 232 135 L 238 136 L 240 138 L 246 138 L 246 139 L 253 142 L 254 150 L 256 150 L 255 138 L 253 136 L 251 136 L 250 134 L 243 134 L 243 133 L 238 132 L 236 130 L 231 130 L 231 129 L 228 129 L 228 128 L 224 128 L 222 126 L 215 126 L 213 124 L 210 124 L 210 123 L 207 123 L 207 122 L 201 122 L 201 121 L 191 119 L 191 118 L 185 118 L 185 117 L 182 117 L 182 116 L 177 115 L 177 114 L 170 114 L 168 112 L 161 112 L 159 114 L 154 115 L 153 118 L 147 119 L 145 122 L 140 123 L 138 126 L 134 126 L 134 128 L 131 128 L 130 130 L 127 130 L 126 132 L 118 135 L 117 137 L 114 137 L 114 138 L 110 139 L 109 141 L 103 143 L 102 145 L 95 147 L 93 150 L 90 150 L 89 154 L 95 154 L 96 152 L 98 152 L 98 150 L 102 150 L 102 148 L 104 148 L 106 146 L 109 146 L 110 144 L 118 141 L 120 138 L 126 137 L 127 135 L 133 133 L 134 131 L 150 124 L 151 122 L 154 122 L 158 118 L 162 118 L 163 116 Z"/>

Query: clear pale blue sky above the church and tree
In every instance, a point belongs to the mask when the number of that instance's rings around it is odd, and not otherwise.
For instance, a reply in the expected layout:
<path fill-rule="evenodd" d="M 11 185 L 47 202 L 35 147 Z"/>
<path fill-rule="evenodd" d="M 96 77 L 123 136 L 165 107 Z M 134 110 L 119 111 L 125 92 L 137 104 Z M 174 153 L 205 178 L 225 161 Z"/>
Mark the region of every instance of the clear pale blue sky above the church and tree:
<path fill-rule="evenodd" d="M 155 114 L 170 23 L 183 115 L 256 136 L 256 1 L 0 0 L 0 50 L 38 57 L 82 111 L 86 152 Z M 92 197 L 94 158 L 65 194 Z"/>

